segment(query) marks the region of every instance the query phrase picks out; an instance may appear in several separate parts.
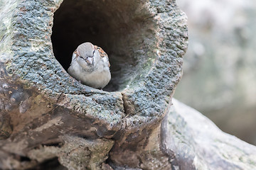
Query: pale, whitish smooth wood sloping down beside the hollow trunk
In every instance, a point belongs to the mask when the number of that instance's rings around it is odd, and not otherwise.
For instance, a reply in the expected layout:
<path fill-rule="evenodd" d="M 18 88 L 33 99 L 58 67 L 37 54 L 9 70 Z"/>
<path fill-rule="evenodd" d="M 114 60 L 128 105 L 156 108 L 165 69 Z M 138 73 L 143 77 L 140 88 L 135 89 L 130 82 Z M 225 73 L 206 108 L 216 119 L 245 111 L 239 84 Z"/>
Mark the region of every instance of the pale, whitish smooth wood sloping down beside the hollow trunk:
<path fill-rule="evenodd" d="M 162 145 L 178 169 L 256 169 L 256 147 L 222 132 L 198 111 L 173 100 Z"/>

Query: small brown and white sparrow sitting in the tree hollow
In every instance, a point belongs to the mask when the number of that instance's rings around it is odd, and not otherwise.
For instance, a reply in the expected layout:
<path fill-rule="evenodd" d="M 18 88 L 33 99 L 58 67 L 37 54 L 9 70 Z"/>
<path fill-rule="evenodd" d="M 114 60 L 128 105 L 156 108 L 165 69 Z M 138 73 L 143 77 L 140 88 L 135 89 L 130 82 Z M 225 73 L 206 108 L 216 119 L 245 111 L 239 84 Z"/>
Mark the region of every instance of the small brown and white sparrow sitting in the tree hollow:
<path fill-rule="evenodd" d="M 102 90 L 111 79 L 107 53 L 91 42 L 78 45 L 73 52 L 68 74 L 82 84 Z"/>

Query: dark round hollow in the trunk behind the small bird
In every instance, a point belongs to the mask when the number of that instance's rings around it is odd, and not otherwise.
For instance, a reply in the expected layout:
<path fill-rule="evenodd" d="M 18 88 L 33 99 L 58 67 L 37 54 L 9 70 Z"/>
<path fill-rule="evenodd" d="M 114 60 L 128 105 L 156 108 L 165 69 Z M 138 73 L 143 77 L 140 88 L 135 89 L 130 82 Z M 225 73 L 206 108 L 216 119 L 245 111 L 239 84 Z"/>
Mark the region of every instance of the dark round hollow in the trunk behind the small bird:
<path fill-rule="evenodd" d="M 156 49 L 151 13 L 136 0 L 64 0 L 54 13 L 53 52 L 65 70 L 82 42 L 102 47 L 112 79 L 106 91 L 121 91 L 149 69 Z"/>

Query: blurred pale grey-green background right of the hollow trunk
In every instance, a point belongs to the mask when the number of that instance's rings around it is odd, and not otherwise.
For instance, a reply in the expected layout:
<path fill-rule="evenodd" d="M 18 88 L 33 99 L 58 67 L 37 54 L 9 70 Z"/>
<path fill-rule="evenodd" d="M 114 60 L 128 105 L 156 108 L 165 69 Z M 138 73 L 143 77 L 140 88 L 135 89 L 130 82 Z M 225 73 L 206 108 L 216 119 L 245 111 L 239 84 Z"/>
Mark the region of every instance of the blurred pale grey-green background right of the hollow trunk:
<path fill-rule="evenodd" d="M 188 51 L 174 98 L 256 145 L 256 1 L 176 0 Z"/>

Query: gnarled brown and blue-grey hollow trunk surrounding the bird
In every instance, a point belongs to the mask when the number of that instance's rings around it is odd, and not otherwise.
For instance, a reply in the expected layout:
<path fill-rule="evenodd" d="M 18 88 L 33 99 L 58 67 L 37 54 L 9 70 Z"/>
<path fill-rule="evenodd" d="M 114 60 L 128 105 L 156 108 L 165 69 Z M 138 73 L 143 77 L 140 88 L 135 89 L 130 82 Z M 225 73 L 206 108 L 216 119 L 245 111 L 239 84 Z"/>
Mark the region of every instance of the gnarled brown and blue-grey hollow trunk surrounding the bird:
<path fill-rule="evenodd" d="M 175 2 L 61 3 L 0 1 L 0 168 L 198 168 L 166 124 L 188 38 Z M 85 41 L 109 54 L 106 91 L 65 71 Z"/>

